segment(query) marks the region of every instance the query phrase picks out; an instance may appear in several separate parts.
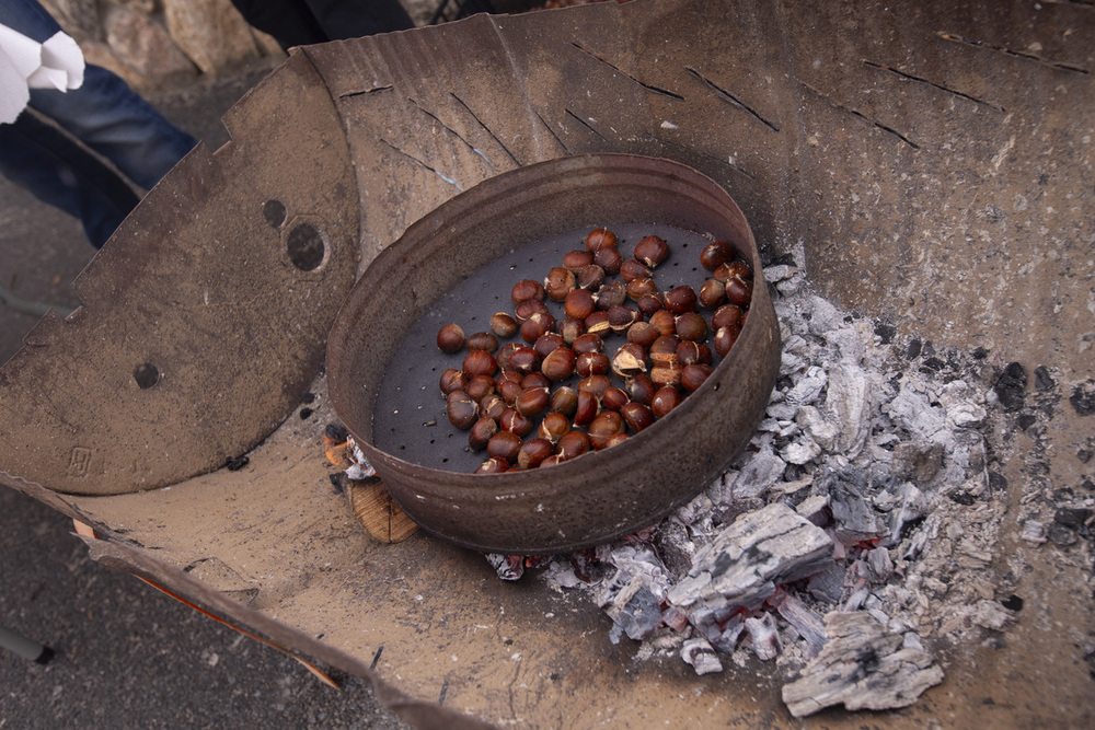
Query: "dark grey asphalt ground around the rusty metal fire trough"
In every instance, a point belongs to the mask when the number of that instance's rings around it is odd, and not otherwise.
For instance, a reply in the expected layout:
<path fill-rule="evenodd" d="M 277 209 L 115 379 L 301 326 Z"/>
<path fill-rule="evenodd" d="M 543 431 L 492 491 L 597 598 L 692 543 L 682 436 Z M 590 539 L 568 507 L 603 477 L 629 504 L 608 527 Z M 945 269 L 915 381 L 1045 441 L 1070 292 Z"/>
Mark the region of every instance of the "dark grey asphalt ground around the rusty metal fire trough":
<path fill-rule="evenodd" d="M 270 63 L 150 97 L 216 149 L 220 117 Z M 79 223 L 0 178 L 0 283 L 57 306 L 94 248 Z M 0 306 L 0 362 L 37 317 Z M 0 487 L 0 627 L 48 644 L 36 664 L 0 650 L 0 728 L 405 727 L 372 690 L 336 691 L 285 654 L 88 557 L 67 518 Z"/>

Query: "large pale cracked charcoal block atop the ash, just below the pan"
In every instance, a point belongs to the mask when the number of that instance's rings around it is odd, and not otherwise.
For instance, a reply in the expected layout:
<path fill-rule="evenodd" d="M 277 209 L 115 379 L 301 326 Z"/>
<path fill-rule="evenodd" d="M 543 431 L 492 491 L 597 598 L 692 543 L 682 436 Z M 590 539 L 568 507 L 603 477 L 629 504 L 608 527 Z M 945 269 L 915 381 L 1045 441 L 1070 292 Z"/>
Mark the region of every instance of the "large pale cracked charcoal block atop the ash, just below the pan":
<path fill-rule="evenodd" d="M 738 517 L 695 556 L 689 575 L 669 589 L 669 601 L 689 610 L 728 616 L 752 611 L 776 586 L 819 570 L 832 553 L 823 530 L 773 502 Z"/>

